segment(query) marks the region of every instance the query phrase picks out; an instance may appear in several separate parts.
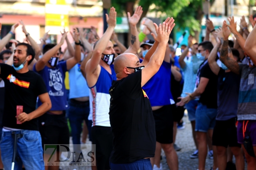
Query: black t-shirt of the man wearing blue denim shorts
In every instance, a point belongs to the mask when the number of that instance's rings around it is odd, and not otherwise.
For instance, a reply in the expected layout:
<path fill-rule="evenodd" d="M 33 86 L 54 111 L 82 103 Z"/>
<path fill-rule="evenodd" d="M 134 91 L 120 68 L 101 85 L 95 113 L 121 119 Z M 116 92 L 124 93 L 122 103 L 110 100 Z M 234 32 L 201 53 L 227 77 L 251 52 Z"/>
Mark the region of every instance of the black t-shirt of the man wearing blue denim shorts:
<path fill-rule="evenodd" d="M 201 77 L 205 77 L 205 78 L 209 79 L 209 82 L 208 82 L 204 92 L 201 94 L 199 102 L 202 103 L 203 105 L 206 105 L 207 108 L 217 109 L 217 81 L 218 81 L 218 76 L 215 75 L 211 71 L 208 62 L 201 68 L 200 80 L 201 80 Z"/>

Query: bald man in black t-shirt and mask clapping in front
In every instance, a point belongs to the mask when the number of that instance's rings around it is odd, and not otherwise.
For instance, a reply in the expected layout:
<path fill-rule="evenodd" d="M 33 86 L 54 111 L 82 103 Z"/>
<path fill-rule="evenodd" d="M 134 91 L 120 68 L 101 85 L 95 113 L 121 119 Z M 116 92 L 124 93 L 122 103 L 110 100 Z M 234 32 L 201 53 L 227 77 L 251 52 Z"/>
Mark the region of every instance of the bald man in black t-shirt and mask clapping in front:
<path fill-rule="evenodd" d="M 157 37 L 151 34 L 155 39 L 150 48 L 155 50 L 151 58 L 140 63 L 136 55 L 124 53 L 115 59 L 117 81 L 109 89 L 109 119 L 113 134 L 111 170 L 152 170 L 149 158 L 155 153 L 155 121 L 142 87 L 163 62 L 166 44 L 175 25 L 173 18 L 166 21 L 159 28 L 155 24 Z"/>

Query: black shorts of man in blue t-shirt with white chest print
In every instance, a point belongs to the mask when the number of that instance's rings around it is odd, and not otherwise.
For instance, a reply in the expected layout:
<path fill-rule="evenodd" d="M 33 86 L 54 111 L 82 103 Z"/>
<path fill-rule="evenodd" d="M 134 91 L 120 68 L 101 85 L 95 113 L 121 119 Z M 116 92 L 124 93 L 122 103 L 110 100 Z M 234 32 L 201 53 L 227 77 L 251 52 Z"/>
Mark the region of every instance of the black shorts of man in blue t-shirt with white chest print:
<path fill-rule="evenodd" d="M 39 132 L 42 146 L 45 144 L 69 145 L 69 129 L 65 114 L 43 114 L 39 117 Z"/>

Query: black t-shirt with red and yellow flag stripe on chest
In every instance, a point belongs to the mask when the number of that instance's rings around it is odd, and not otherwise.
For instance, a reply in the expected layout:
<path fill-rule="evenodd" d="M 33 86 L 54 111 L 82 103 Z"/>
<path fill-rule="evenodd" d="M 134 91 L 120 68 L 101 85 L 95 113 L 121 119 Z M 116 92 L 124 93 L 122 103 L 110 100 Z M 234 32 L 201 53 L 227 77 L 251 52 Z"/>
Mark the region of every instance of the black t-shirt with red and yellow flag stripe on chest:
<path fill-rule="evenodd" d="M 23 106 L 23 112 L 31 113 L 35 110 L 36 98 L 47 93 L 42 77 L 33 72 L 17 73 L 12 66 L 0 64 L 2 78 L 5 82 L 5 106 L 2 125 L 5 127 L 36 130 L 38 119 L 32 119 L 22 124 L 16 123 L 16 106 Z"/>

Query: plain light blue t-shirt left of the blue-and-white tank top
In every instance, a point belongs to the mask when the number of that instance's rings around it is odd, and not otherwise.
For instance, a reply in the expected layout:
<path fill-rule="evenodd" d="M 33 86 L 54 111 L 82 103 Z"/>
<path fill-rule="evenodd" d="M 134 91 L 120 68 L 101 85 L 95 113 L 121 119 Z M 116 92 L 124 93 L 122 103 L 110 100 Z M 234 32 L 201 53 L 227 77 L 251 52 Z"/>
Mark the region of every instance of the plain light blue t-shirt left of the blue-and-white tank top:
<path fill-rule="evenodd" d="M 80 64 L 76 64 L 69 71 L 69 98 L 89 97 L 89 88 L 83 77 Z"/>

